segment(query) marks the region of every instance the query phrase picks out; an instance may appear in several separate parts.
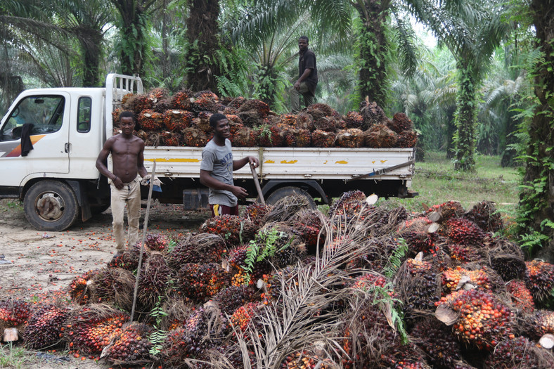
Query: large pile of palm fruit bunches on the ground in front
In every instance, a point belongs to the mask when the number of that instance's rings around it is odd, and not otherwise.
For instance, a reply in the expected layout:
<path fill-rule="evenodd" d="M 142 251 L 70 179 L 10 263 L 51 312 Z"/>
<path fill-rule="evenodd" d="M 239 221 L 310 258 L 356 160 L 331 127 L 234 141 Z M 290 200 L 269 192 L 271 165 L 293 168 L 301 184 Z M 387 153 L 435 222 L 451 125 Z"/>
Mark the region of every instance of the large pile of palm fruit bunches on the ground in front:
<path fill-rule="evenodd" d="M 554 368 L 554 265 L 503 227 L 488 201 L 408 214 L 351 191 L 324 214 L 293 195 L 150 233 L 70 298 L 2 301 L 0 328 L 125 368 Z"/>

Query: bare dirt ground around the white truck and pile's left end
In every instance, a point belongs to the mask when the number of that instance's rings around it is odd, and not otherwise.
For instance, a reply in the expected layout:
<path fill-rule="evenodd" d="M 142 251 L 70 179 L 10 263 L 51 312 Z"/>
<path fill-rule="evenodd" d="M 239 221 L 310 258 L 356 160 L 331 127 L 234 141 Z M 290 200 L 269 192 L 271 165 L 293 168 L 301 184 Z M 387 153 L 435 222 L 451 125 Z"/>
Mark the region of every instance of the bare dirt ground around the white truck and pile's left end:
<path fill-rule="evenodd" d="M 141 223 L 145 214 L 146 202 Z M 184 212 L 181 205 L 155 201 L 150 207 L 147 233 L 197 231 L 209 216 L 209 212 Z M 111 222 L 108 209 L 89 221 L 78 221 L 67 231 L 41 232 L 27 222 L 18 202 L 0 200 L 0 300 L 12 297 L 41 302 L 66 298 L 63 290 L 75 276 L 101 268 L 112 259 L 115 241 Z M 16 349 L 1 347 L 0 368 L 110 368 L 105 362 L 75 358 L 67 352 L 38 353 L 39 357 L 35 351 L 25 351 L 24 357 L 18 359 L 13 356 L 21 350 Z"/>

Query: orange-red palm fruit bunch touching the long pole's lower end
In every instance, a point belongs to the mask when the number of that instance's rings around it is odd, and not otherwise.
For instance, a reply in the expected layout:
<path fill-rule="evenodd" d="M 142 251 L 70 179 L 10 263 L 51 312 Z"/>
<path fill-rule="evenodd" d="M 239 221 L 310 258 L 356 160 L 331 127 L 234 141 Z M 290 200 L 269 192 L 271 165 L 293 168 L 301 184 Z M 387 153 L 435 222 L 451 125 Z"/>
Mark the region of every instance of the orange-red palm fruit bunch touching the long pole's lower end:
<path fill-rule="evenodd" d="M 110 337 L 110 344 L 102 351 L 101 358 L 106 358 L 116 365 L 138 365 L 148 363 L 153 344 L 148 335 L 153 328 L 144 323 L 133 322 L 121 328 Z"/>

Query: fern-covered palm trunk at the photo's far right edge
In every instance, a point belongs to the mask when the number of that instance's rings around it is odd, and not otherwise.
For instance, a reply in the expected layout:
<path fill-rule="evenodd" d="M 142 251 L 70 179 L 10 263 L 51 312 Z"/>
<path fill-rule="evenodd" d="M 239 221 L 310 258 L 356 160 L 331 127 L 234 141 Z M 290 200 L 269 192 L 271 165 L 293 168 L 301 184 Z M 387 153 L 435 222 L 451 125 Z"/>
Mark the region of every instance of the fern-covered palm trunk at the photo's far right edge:
<path fill-rule="evenodd" d="M 542 247 L 533 256 L 554 262 L 554 0 L 533 0 L 531 4 L 536 38 L 543 60 L 536 67 L 535 95 L 539 101 L 529 127 L 524 184 L 520 193 L 521 233 L 533 234 Z M 550 100 L 550 102 L 549 102 Z M 548 225 L 550 223 L 550 225 Z M 540 236 L 539 236 L 540 235 Z M 537 250 L 538 249 L 538 250 Z"/>

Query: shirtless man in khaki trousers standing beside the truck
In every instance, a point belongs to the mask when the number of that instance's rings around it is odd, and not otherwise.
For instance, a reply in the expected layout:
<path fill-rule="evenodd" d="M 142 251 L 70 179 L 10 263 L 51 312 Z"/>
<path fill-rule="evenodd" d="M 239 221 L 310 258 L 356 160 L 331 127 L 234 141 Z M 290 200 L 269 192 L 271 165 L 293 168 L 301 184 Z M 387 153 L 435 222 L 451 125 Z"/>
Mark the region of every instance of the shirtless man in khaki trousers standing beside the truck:
<path fill-rule="evenodd" d="M 144 141 L 133 136 L 134 127 L 134 113 L 122 112 L 120 114 L 122 133 L 108 138 L 96 159 L 96 168 L 108 177 L 112 189 L 112 226 L 117 245 L 115 257 L 120 256 L 125 250 L 123 214 L 126 202 L 129 245 L 134 245 L 139 240 L 141 188 L 137 173 L 144 177 L 148 172 L 144 167 Z M 112 154 L 113 172 L 106 166 L 110 154 Z"/>

